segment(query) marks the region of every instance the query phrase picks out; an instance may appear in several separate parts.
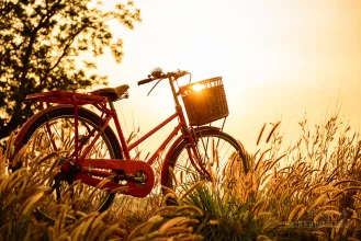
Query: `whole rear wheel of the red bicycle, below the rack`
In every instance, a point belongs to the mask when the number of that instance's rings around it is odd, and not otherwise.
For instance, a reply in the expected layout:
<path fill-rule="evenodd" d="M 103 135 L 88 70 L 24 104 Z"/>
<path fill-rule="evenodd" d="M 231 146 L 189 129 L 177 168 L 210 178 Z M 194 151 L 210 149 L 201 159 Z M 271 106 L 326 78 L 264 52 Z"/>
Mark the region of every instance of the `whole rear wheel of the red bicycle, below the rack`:
<path fill-rule="evenodd" d="M 40 217 L 54 220 L 59 214 L 59 204 L 71 206 L 81 213 L 104 211 L 113 202 L 115 194 L 93 186 L 75 183 L 71 180 L 60 181 L 54 172 L 54 164 L 59 169 L 75 150 L 75 108 L 72 106 L 55 108 L 40 116 L 26 130 L 21 140 L 25 148 L 20 164 L 30 168 L 41 157 L 61 151 L 60 157 L 52 157 L 36 167 L 35 175 L 44 176 L 44 185 L 52 187 L 47 195 L 47 204 L 37 209 Z M 80 150 L 83 151 L 93 137 L 101 131 L 101 118 L 94 113 L 78 108 L 79 139 L 86 140 Z M 113 130 L 108 126 L 97 140 L 87 159 L 122 159 L 119 141 Z M 32 168 L 34 169 L 34 167 Z"/>

